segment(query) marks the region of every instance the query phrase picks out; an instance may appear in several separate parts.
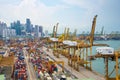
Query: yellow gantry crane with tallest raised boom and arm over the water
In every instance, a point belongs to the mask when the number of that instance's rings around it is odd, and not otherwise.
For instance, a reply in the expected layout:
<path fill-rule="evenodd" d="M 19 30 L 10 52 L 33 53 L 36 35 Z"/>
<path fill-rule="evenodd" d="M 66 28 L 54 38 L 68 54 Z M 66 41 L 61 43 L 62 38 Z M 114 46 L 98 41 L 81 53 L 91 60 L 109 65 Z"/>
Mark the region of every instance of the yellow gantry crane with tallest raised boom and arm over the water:
<path fill-rule="evenodd" d="M 68 64 L 76 70 L 79 70 L 79 65 L 81 64 L 86 68 L 92 70 L 92 62 L 88 61 L 88 55 L 92 55 L 92 46 L 108 46 L 107 44 L 93 44 L 96 18 L 97 15 L 93 19 L 91 33 L 88 37 L 85 38 L 85 40 L 76 40 L 77 45 L 74 46 L 68 45 L 70 54 L 68 58 Z M 88 51 L 88 49 L 90 49 L 90 52 Z M 88 64 L 90 65 L 88 66 Z"/>

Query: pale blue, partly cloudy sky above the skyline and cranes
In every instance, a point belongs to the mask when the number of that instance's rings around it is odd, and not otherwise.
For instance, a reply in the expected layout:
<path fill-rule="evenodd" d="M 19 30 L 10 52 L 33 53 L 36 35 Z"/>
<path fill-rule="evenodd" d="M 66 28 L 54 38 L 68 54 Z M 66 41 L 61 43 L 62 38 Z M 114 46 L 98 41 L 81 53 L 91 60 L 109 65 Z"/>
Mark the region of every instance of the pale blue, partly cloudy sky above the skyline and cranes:
<path fill-rule="evenodd" d="M 33 25 L 42 25 L 52 32 L 59 23 L 58 33 L 65 27 L 70 32 L 90 32 L 97 14 L 96 32 L 104 26 L 106 33 L 120 31 L 120 0 L 0 0 L 0 21 L 10 23 L 30 18 Z"/>

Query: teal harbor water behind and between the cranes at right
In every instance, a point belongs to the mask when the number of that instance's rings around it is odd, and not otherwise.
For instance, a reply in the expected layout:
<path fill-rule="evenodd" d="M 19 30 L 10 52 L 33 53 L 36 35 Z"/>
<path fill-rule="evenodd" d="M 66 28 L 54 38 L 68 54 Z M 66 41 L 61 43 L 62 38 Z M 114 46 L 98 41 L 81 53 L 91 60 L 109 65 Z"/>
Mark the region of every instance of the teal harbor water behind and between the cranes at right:
<path fill-rule="evenodd" d="M 120 49 L 120 40 L 108 40 L 108 41 L 94 41 L 94 43 L 104 43 L 104 44 L 108 44 L 110 45 L 110 47 L 114 48 L 115 50 Z M 93 47 L 93 51 L 92 54 L 96 54 L 96 48 L 97 47 Z M 109 74 L 112 72 L 112 70 L 114 69 L 115 66 L 115 61 L 111 61 L 109 60 Z M 119 65 L 120 66 L 120 65 Z M 105 63 L 104 63 L 104 59 L 103 58 L 98 58 L 96 60 L 92 61 L 92 69 L 102 75 L 105 75 Z M 119 70 L 120 73 L 120 70 Z M 115 71 L 113 72 L 113 74 L 110 77 L 114 77 Z"/>

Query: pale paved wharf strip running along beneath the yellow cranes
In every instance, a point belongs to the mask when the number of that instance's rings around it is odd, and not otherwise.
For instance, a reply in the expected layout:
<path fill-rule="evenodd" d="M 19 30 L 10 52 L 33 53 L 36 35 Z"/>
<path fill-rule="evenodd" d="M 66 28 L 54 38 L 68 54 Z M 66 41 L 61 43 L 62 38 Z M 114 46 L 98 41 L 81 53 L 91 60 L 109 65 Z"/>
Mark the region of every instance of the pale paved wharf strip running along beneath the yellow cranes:
<path fill-rule="evenodd" d="M 56 58 L 53 55 L 52 50 L 49 50 L 49 52 L 48 52 L 45 47 L 43 47 L 43 50 L 55 61 L 61 61 L 61 60 L 64 61 L 65 69 L 67 69 L 67 71 L 69 71 L 72 75 L 74 75 L 76 78 L 78 78 L 78 80 L 105 80 L 105 78 L 102 75 L 100 75 L 99 73 L 87 70 L 82 66 L 80 66 L 80 71 L 78 72 L 68 65 L 68 63 L 67 63 L 68 59 L 66 57 L 60 55 L 60 58 Z M 75 79 L 75 80 L 77 80 L 77 79 Z"/>

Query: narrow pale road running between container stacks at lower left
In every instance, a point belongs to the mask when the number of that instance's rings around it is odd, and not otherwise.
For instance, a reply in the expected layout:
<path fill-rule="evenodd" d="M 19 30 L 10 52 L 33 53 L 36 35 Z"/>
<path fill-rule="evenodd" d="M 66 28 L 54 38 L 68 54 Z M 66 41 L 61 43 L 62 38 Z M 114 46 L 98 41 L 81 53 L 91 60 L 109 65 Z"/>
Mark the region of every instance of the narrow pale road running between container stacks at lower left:
<path fill-rule="evenodd" d="M 29 59 L 28 52 L 25 49 L 23 49 L 23 52 L 24 52 L 25 62 L 26 62 L 27 71 L 28 71 L 28 80 L 37 80 L 36 73 L 33 69 L 33 66 L 31 65 L 31 63 L 28 60 Z"/>

